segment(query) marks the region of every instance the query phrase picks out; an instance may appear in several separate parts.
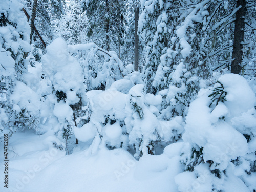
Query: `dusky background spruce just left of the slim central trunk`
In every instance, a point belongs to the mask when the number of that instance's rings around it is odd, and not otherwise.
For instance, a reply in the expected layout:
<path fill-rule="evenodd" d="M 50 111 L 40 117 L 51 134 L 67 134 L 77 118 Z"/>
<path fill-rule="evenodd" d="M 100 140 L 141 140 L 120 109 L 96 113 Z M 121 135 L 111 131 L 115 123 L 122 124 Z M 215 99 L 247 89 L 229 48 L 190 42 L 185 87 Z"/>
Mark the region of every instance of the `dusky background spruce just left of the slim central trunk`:
<path fill-rule="evenodd" d="M 106 51 L 116 51 L 121 56 L 124 33 L 123 1 L 84 2 L 83 8 L 88 16 L 87 35 L 92 42 Z"/>

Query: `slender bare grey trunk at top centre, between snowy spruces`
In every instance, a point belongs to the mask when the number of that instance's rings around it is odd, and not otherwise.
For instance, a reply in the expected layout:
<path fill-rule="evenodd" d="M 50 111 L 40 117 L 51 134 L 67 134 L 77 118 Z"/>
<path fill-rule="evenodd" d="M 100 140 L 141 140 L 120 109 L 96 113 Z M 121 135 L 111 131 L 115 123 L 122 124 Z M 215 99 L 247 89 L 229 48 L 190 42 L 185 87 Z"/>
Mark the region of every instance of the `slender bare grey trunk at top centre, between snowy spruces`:
<path fill-rule="evenodd" d="M 139 36 L 138 36 L 139 7 L 135 9 L 134 30 L 134 70 L 139 71 Z"/>

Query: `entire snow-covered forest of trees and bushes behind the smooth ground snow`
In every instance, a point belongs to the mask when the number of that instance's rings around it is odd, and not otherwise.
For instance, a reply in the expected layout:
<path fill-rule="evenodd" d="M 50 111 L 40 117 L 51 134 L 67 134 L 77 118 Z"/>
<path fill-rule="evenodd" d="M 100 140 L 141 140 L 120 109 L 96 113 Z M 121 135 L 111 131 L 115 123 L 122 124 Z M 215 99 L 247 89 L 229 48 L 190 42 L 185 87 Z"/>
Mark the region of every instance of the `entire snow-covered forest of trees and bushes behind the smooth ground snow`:
<path fill-rule="evenodd" d="M 256 191 L 255 0 L 2 0 L 0 14 L 1 143 L 167 154 L 172 191 Z"/>

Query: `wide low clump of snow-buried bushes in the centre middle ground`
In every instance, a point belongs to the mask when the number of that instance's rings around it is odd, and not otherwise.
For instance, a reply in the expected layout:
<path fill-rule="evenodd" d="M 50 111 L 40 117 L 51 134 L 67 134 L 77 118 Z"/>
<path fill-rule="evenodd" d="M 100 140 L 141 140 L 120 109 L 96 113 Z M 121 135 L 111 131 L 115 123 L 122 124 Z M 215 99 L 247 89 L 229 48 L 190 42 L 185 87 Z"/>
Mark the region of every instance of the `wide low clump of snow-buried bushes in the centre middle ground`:
<path fill-rule="evenodd" d="M 136 72 L 135 72 L 136 73 Z M 133 75 L 131 75 L 133 76 Z M 130 79 L 115 81 L 105 90 L 86 93 L 91 114 L 89 122 L 75 128 L 76 138 L 88 143 L 90 152 L 98 146 L 123 148 L 136 158 L 143 154 L 158 154 L 156 150 L 162 142 L 173 142 L 183 132 L 182 118 L 174 118 L 166 123 L 157 119 L 156 106 L 161 104 L 161 95 L 143 93 L 143 84 Z"/>

